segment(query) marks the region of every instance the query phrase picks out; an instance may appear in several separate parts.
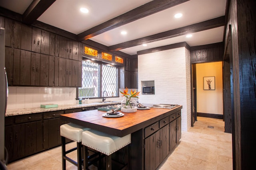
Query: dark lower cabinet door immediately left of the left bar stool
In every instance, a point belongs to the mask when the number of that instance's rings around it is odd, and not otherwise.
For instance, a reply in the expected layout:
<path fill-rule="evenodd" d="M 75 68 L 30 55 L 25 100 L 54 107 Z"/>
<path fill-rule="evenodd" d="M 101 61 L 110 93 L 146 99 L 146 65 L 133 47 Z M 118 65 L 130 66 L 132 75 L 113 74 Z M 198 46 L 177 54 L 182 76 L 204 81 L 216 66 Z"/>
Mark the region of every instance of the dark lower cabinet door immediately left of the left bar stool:
<path fill-rule="evenodd" d="M 44 120 L 44 149 L 58 145 L 58 119 L 60 118 Z"/>

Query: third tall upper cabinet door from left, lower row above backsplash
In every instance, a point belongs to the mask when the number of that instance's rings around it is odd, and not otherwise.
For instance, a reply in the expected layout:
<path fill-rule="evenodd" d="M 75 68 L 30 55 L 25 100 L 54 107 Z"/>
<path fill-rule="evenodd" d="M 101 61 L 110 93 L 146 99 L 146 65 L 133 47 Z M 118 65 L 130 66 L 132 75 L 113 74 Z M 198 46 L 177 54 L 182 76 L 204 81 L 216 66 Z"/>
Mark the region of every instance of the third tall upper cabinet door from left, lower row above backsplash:
<path fill-rule="evenodd" d="M 20 85 L 30 85 L 31 52 L 20 51 Z"/>

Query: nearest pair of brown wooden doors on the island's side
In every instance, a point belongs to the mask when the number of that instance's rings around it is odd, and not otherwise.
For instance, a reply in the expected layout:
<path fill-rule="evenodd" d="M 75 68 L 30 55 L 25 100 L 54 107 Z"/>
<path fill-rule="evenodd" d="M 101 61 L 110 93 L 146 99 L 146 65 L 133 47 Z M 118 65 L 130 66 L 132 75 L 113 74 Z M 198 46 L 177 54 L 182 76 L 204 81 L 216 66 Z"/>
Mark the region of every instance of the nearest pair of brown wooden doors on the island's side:
<path fill-rule="evenodd" d="M 169 126 L 145 139 L 145 170 L 155 170 L 169 153 Z"/>

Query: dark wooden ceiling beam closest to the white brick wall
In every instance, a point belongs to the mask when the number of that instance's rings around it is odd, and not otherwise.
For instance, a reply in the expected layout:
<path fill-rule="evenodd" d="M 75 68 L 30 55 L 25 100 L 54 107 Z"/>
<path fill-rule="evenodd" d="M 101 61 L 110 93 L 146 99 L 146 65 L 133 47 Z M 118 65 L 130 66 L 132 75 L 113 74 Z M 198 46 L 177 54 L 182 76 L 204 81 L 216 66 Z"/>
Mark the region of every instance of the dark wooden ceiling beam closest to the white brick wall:
<path fill-rule="evenodd" d="M 200 23 L 195 23 L 192 25 L 188 25 L 185 27 L 180 27 L 177 29 L 172 29 L 169 31 L 165 31 L 162 33 L 157 33 L 154 35 L 150 35 L 147 37 L 143 37 L 143 38 L 139 38 L 139 39 L 134 39 L 131 41 L 127 41 L 124 43 L 119 43 L 116 45 L 112 45 L 108 47 L 108 51 L 118 51 L 121 49 L 126 49 L 129 47 L 134 47 L 137 45 L 142 45 L 144 43 L 152 43 L 155 41 L 160 41 L 163 39 L 168 39 L 168 38 L 173 38 L 173 37 L 178 37 L 181 35 L 186 35 L 188 33 L 195 33 L 195 32 L 199 32 L 199 31 L 204 31 L 206 29 L 212 29 L 212 28 L 216 28 L 216 27 L 220 27 L 220 26 L 224 26 L 226 25 L 225 22 L 225 16 L 221 16 L 218 18 L 214 18 L 212 20 L 207 20 L 207 21 L 203 21 Z"/>

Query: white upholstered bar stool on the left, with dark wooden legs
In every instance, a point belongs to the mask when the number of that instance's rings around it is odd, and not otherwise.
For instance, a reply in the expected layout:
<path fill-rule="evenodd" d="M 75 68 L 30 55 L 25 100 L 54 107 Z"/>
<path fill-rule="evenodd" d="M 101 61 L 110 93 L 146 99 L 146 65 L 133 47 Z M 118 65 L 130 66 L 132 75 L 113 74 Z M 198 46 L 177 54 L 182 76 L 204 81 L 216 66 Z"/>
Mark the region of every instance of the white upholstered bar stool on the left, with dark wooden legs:
<path fill-rule="evenodd" d="M 89 128 L 76 125 L 74 123 L 67 123 L 60 126 L 61 147 L 62 147 L 62 170 L 66 170 L 66 160 L 82 170 L 82 132 L 87 131 Z M 76 142 L 76 147 L 66 150 L 66 138 Z M 66 154 L 77 150 L 77 162 L 72 160 Z M 87 159 L 86 159 L 87 160 Z"/>

